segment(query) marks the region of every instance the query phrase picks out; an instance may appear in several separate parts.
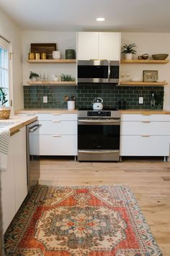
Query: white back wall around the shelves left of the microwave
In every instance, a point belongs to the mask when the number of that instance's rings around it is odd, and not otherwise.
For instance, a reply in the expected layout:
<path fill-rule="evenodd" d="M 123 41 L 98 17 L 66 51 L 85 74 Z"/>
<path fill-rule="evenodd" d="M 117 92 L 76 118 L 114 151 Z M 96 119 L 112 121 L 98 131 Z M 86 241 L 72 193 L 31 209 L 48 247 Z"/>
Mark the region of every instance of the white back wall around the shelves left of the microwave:
<path fill-rule="evenodd" d="M 76 32 L 49 32 L 49 31 L 23 31 L 23 85 L 29 81 L 30 71 L 37 74 L 48 74 L 51 80 L 52 74 L 60 76 L 62 73 L 71 74 L 76 77 L 76 64 L 30 64 L 27 63 L 30 43 L 57 43 L 58 51 L 61 52 L 61 59 L 66 59 L 66 49 L 76 51 Z"/>

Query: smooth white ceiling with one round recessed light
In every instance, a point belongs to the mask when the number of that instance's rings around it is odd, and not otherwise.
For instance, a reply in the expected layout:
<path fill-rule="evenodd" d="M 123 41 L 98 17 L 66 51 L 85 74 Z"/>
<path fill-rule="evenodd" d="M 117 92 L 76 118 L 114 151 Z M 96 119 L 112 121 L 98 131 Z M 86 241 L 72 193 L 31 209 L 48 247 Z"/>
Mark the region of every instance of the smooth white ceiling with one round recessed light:
<path fill-rule="evenodd" d="M 0 8 L 22 30 L 170 33 L 170 0 L 0 0 Z"/>

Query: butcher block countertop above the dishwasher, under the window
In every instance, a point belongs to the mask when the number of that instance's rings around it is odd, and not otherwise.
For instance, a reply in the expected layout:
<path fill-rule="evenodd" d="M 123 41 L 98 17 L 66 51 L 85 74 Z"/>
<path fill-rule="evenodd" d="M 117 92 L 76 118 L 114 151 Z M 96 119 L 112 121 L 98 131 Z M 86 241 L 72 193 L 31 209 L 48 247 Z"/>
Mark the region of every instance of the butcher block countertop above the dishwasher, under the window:
<path fill-rule="evenodd" d="M 9 129 L 10 135 L 12 136 L 15 132 L 17 132 L 17 130 L 25 127 L 28 124 L 31 124 L 32 121 L 36 120 L 37 116 L 10 116 L 9 119 L 0 120 L 0 127 L 1 125 L 4 126 L 4 123 L 10 123 L 10 125 L 7 125 L 5 127 Z"/>

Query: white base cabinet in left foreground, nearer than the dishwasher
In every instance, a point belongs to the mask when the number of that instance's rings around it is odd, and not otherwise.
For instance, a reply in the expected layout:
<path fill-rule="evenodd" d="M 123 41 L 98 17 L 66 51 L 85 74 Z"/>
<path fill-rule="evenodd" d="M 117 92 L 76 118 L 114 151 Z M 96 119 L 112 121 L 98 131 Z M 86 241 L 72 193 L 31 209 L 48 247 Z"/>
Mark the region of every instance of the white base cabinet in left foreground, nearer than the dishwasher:
<path fill-rule="evenodd" d="M 26 127 L 10 137 L 6 171 L 1 171 L 3 232 L 27 196 Z"/>

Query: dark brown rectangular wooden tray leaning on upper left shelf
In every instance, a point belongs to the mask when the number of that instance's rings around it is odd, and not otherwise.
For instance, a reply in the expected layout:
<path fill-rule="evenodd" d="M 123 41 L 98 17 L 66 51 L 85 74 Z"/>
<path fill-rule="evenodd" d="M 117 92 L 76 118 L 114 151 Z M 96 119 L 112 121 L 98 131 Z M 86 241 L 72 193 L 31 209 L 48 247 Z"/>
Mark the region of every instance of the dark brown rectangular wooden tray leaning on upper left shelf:
<path fill-rule="evenodd" d="M 47 59 L 53 59 L 53 51 L 56 50 L 56 43 L 31 43 L 31 52 L 34 54 L 45 53 Z"/>

